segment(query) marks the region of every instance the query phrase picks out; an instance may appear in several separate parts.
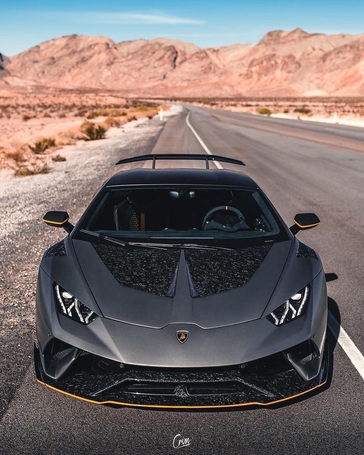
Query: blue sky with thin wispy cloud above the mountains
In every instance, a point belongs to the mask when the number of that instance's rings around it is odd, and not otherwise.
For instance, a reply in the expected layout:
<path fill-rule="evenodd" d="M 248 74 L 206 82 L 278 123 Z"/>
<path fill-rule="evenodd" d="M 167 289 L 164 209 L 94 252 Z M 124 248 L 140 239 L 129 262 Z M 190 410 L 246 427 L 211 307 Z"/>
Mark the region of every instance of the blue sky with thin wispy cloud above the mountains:
<path fill-rule="evenodd" d="M 363 33 L 364 0 L 0 0 L 0 52 L 73 33 L 115 42 L 177 38 L 201 47 L 257 43 L 270 30 Z"/>

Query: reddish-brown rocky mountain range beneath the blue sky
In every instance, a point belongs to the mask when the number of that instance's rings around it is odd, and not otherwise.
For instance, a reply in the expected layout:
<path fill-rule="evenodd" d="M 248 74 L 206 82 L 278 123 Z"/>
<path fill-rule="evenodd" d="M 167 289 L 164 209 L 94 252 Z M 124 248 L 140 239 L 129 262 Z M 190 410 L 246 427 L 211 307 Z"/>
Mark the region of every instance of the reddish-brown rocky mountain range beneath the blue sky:
<path fill-rule="evenodd" d="M 257 45 L 199 48 L 157 38 L 71 35 L 7 63 L 11 86 L 98 88 L 128 96 L 364 95 L 364 34 L 267 33 Z"/>

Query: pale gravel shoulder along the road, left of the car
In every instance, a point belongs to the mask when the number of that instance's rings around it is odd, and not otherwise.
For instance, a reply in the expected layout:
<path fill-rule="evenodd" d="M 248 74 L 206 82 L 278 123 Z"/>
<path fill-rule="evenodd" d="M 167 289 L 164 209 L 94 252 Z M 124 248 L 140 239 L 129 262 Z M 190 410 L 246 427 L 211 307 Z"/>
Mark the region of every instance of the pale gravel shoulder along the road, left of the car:
<path fill-rule="evenodd" d="M 177 112 L 174 106 L 166 118 Z M 40 260 L 65 234 L 47 227 L 42 216 L 48 210 L 65 210 L 75 223 L 95 190 L 116 172 L 115 162 L 150 153 L 163 126 L 158 118 L 138 120 L 123 130 L 109 130 L 107 139 L 65 147 L 59 153 L 67 161 L 54 163 L 50 174 L 0 175 L 0 416 L 33 362 Z"/>

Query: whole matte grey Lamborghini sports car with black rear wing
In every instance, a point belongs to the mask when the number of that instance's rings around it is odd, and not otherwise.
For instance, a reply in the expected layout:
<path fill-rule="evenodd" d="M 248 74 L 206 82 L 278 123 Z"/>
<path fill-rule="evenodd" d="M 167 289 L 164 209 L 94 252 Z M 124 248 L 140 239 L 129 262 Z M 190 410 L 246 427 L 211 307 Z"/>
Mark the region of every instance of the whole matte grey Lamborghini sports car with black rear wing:
<path fill-rule="evenodd" d="M 326 382 L 327 294 L 317 253 L 288 228 L 240 164 L 143 155 L 152 169 L 105 182 L 43 256 L 35 368 L 40 383 L 96 404 L 269 405 Z M 155 169 L 158 159 L 206 169 Z M 117 163 L 117 164 L 119 164 Z"/>

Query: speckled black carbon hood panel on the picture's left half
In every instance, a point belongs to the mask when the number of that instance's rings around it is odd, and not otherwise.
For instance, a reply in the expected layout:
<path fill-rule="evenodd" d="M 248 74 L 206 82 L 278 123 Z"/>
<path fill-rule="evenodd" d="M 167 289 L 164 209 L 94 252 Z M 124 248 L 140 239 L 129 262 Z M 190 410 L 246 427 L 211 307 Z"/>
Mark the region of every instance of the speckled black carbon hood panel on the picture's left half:
<path fill-rule="evenodd" d="M 122 248 L 92 243 L 108 271 L 124 286 L 173 297 L 179 250 Z"/>

